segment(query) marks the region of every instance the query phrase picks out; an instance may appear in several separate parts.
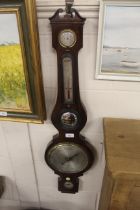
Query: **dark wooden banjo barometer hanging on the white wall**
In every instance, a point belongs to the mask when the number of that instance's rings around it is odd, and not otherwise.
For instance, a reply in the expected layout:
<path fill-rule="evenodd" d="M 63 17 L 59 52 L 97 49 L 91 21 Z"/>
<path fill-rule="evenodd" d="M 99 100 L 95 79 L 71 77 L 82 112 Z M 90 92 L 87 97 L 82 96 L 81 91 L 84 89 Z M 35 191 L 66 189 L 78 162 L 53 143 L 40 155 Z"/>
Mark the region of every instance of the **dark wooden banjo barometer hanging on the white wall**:
<path fill-rule="evenodd" d="M 59 134 L 53 137 L 45 152 L 48 166 L 59 175 L 58 190 L 78 192 L 79 179 L 94 162 L 94 149 L 80 134 L 87 121 L 80 100 L 78 52 L 83 45 L 85 18 L 66 4 L 50 18 L 52 45 L 57 52 L 58 94 L 51 120 Z"/>

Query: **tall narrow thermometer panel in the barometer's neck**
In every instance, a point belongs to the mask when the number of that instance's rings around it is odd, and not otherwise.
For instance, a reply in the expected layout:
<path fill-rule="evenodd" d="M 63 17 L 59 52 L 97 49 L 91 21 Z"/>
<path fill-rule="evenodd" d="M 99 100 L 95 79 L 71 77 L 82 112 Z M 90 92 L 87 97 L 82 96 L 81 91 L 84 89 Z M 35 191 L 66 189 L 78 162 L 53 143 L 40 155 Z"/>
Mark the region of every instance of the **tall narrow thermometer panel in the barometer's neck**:
<path fill-rule="evenodd" d="M 63 58 L 63 77 L 64 77 L 64 100 L 66 103 L 72 103 L 73 101 L 72 59 L 69 56 Z"/>

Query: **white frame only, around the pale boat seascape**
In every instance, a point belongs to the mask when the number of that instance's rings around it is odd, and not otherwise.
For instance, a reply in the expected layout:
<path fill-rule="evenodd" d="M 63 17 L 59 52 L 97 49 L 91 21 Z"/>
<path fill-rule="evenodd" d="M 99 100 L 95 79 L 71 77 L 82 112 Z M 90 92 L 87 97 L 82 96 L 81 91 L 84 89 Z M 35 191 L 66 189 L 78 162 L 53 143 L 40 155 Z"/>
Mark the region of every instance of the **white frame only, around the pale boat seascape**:
<path fill-rule="evenodd" d="M 104 37 L 104 22 L 105 22 L 105 10 L 107 6 L 139 6 L 140 1 L 133 0 L 101 0 L 100 2 L 100 13 L 99 13 L 99 29 L 98 29 L 98 44 L 97 44 L 97 58 L 96 58 L 96 79 L 103 80 L 124 80 L 124 81 L 140 81 L 140 73 L 113 73 L 113 72 L 102 72 L 102 51 L 103 51 L 103 37 Z M 140 27 L 140 26 L 139 26 Z"/>

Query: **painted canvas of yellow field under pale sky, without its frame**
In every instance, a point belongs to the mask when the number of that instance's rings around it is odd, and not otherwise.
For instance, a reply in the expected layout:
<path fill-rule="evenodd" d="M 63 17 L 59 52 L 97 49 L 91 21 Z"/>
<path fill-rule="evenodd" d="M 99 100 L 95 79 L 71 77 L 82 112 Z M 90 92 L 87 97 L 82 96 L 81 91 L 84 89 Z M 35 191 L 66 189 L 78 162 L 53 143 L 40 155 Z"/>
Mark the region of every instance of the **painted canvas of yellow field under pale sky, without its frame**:
<path fill-rule="evenodd" d="M 0 12 L 0 110 L 30 111 L 16 13 Z"/>

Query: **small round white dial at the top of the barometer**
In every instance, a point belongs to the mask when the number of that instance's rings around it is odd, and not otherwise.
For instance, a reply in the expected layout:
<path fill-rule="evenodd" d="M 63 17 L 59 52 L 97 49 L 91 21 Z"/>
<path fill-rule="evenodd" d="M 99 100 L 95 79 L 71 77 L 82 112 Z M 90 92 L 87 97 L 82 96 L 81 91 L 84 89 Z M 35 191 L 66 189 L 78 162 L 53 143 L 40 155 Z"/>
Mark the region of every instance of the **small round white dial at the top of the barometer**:
<path fill-rule="evenodd" d="M 76 34 L 70 29 L 63 30 L 59 33 L 58 39 L 62 47 L 73 47 L 76 43 Z"/>

